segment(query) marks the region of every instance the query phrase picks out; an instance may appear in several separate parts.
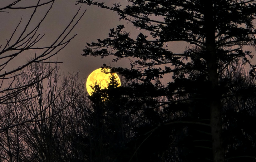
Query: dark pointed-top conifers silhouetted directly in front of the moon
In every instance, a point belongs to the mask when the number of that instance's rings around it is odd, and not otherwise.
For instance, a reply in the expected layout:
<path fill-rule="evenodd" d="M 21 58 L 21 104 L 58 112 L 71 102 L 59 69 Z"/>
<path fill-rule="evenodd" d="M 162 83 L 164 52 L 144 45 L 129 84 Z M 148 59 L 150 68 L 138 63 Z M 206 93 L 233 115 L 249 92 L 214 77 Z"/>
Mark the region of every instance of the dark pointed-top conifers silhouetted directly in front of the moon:
<path fill-rule="evenodd" d="M 103 72 L 104 69 L 102 70 Z M 126 97 L 120 94 L 116 76 L 111 74 L 107 88 L 100 83 L 88 98 L 92 101 L 90 112 L 91 161 L 122 161 L 125 159 L 126 143 L 130 140 L 130 113 L 125 108 Z"/>

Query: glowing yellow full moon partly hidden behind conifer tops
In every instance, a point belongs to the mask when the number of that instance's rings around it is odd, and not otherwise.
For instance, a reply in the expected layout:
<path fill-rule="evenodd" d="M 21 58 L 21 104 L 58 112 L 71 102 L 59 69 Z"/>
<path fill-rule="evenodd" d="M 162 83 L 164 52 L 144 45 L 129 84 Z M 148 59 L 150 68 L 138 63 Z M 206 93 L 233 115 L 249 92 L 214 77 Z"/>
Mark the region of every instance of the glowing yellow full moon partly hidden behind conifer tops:
<path fill-rule="evenodd" d="M 110 71 L 110 69 L 106 69 L 107 72 Z M 88 94 L 91 96 L 93 90 L 91 89 L 91 86 L 94 86 L 95 83 L 100 84 L 101 88 L 107 88 L 108 82 L 110 82 L 111 73 L 105 74 L 101 72 L 101 68 L 96 69 L 95 71 L 92 71 L 91 74 L 88 76 L 86 81 L 86 90 Z M 114 76 L 116 77 L 116 80 L 118 81 L 119 85 L 121 86 L 121 81 L 119 76 L 114 73 Z"/>

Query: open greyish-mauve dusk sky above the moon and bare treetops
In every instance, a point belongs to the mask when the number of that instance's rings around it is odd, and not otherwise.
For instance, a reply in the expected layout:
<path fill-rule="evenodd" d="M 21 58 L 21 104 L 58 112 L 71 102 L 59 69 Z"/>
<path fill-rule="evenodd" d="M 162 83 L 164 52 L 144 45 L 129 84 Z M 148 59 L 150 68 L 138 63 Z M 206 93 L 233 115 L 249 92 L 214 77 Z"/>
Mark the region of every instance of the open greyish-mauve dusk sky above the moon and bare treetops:
<path fill-rule="evenodd" d="M 9 0 L 1 2 L 1 7 L 7 3 Z M 23 3 L 17 4 L 18 6 L 28 6 L 31 4 L 35 4 L 35 1 L 26 0 L 22 1 Z M 27 2 L 27 3 L 24 3 Z M 121 4 L 126 5 L 126 1 L 124 0 L 111 0 L 107 1 L 111 5 L 114 2 L 121 2 Z M 87 76 L 93 70 L 100 68 L 103 63 L 107 65 L 122 66 L 129 67 L 130 62 L 129 59 L 123 59 L 118 61 L 117 63 L 112 62 L 113 57 L 106 57 L 101 59 L 100 57 L 91 57 L 91 56 L 81 56 L 83 53 L 86 42 L 97 42 L 97 39 L 104 39 L 108 37 L 109 30 L 111 28 L 116 28 L 117 25 L 124 24 L 127 32 L 131 32 L 131 37 L 135 38 L 139 32 L 143 32 L 135 29 L 131 23 L 127 23 L 126 21 L 119 21 L 119 16 L 116 12 L 112 12 L 110 10 L 102 9 L 96 6 L 87 6 L 86 4 L 76 4 L 76 0 L 56 0 L 53 4 L 53 7 L 46 17 L 46 20 L 40 26 L 40 33 L 45 34 L 44 39 L 38 43 L 38 46 L 46 46 L 47 43 L 53 42 L 62 30 L 66 27 L 66 25 L 70 22 L 72 17 L 75 15 L 79 7 L 81 6 L 81 10 L 78 15 L 81 15 L 82 12 L 85 12 L 85 15 L 81 18 L 81 21 L 77 24 L 77 26 L 73 29 L 69 38 L 74 34 L 77 36 L 56 56 L 52 57 L 51 60 L 62 61 L 64 63 L 61 64 L 60 71 L 64 74 L 68 72 L 76 72 L 80 71 L 80 78 L 87 78 Z M 33 22 L 38 22 L 43 13 L 47 11 L 50 5 L 45 5 L 39 8 L 36 14 L 36 18 Z M 8 10 L 9 13 L 0 12 L 1 26 L 0 26 L 0 44 L 5 44 L 6 39 L 8 39 L 18 22 L 22 17 L 22 22 L 27 22 L 29 16 L 31 15 L 33 9 L 17 9 L 17 10 Z M 35 23 L 36 24 L 36 23 Z M 24 26 L 24 24 L 23 24 Z M 173 52 L 183 52 L 185 49 L 186 43 L 182 42 L 173 42 L 168 44 L 168 48 Z M 255 50 L 252 49 L 255 53 Z M 8 68 L 12 68 L 11 66 L 17 66 L 22 61 L 26 61 L 26 59 L 34 53 L 23 54 L 20 59 L 14 60 L 11 64 L 9 64 Z"/>

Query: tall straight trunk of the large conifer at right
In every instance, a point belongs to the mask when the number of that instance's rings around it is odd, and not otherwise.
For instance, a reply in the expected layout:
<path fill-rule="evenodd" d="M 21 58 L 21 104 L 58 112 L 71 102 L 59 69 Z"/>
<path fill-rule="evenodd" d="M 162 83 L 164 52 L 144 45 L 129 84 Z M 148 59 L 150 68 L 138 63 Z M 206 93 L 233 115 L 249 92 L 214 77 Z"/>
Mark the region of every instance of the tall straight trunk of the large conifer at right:
<path fill-rule="evenodd" d="M 218 65 L 215 44 L 215 25 L 213 0 L 204 2 L 206 57 L 208 67 L 208 101 L 210 109 L 210 126 L 212 134 L 212 152 L 214 162 L 224 162 L 224 148 L 222 147 L 222 118 L 221 102 L 218 86 Z"/>

